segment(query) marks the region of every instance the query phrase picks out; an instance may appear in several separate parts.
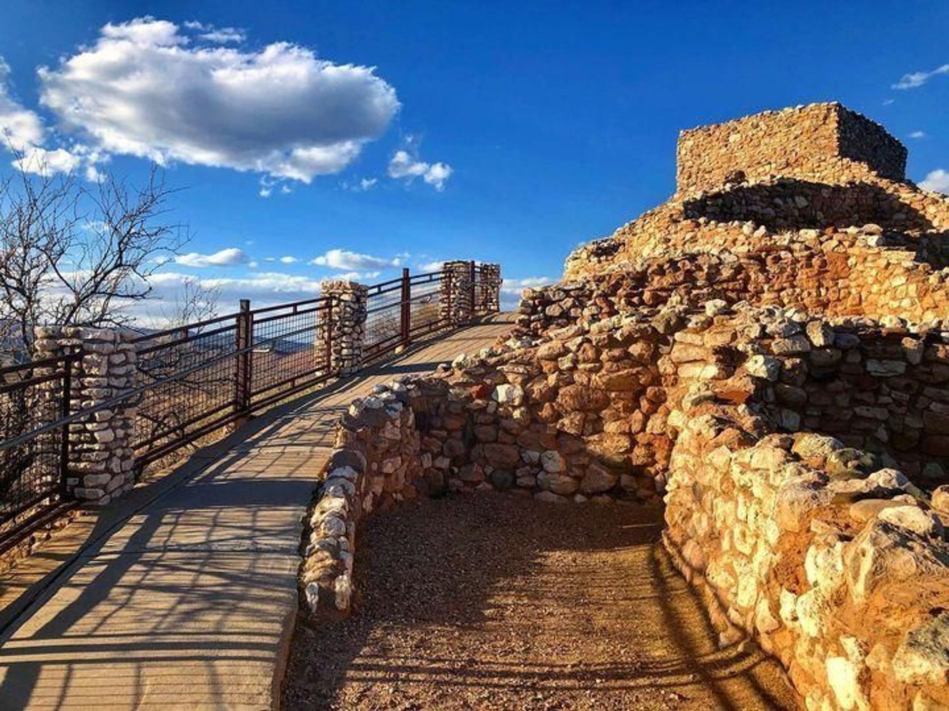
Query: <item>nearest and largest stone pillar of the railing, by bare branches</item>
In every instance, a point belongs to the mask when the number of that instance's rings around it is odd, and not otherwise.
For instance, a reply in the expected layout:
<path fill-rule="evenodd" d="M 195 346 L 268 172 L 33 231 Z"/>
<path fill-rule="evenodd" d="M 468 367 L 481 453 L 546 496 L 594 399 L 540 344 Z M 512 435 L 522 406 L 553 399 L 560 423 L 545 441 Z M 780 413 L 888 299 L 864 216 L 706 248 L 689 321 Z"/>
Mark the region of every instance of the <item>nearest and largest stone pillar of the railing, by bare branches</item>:
<path fill-rule="evenodd" d="M 131 334 L 113 328 L 44 326 L 36 329 L 36 358 L 79 353 L 72 366 L 69 412 L 95 410 L 135 384 Z M 103 505 L 135 484 L 136 402 L 132 397 L 69 425 L 66 496 Z"/>

